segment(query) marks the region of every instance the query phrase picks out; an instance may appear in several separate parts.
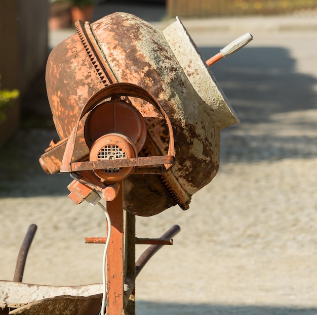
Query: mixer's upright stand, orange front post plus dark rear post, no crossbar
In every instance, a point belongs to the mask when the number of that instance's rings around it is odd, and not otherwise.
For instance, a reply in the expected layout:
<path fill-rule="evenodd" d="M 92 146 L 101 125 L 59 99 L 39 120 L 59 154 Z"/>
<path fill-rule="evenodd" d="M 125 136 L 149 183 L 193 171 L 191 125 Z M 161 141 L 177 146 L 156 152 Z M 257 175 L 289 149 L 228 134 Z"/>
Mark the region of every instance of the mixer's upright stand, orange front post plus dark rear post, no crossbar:
<path fill-rule="evenodd" d="M 135 216 L 123 209 L 123 181 L 118 184 L 116 198 L 107 202 L 111 236 L 106 259 L 106 315 L 134 315 Z"/>

